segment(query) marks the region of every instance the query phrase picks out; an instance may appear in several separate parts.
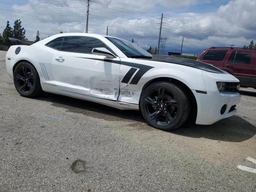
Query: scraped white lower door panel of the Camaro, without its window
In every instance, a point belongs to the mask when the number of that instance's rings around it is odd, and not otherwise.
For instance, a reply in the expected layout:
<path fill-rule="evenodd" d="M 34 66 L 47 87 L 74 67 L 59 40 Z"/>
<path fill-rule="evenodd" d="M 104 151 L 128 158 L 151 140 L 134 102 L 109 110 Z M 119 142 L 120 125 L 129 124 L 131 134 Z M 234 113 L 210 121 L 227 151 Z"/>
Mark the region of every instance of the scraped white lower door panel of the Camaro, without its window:
<path fill-rule="evenodd" d="M 120 59 L 104 61 L 104 56 L 92 54 L 57 52 L 54 56 L 63 61 L 52 61 L 57 86 L 62 91 L 96 98 L 117 100 L 120 86 Z M 94 58 L 102 57 L 102 60 Z"/>

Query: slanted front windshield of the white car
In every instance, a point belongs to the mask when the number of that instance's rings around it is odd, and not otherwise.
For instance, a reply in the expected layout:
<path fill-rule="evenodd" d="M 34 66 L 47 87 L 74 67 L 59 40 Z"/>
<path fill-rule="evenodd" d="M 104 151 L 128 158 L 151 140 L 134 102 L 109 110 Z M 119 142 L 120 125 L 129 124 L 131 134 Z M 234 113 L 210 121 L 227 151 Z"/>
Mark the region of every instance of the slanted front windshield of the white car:
<path fill-rule="evenodd" d="M 106 37 L 112 42 L 118 49 L 120 49 L 127 57 L 130 58 L 152 58 L 149 52 L 140 48 L 136 44 L 118 38 Z"/>

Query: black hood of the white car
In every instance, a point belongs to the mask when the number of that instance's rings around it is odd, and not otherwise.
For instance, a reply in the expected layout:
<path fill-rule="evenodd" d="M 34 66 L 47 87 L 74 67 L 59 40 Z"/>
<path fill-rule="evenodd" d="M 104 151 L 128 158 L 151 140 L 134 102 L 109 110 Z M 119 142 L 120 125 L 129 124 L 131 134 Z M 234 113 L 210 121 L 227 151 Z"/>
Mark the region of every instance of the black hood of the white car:
<path fill-rule="evenodd" d="M 192 60 L 192 59 L 186 59 L 186 58 L 180 58 L 180 57 L 174 57 L 174 56 L 168 56 L 168 55 L 152 55 L 152 59 L 146 59 L 146 60 L 174 63 L 178 65 L 184 65 L 184 66 L 201 69 L 201 70 L 212 72 L 212 73 L 222 73 L 222 74 L 226 73 L 223 70 L 218 69 L 211 64 L 207 64 L 207 63 Z"/>

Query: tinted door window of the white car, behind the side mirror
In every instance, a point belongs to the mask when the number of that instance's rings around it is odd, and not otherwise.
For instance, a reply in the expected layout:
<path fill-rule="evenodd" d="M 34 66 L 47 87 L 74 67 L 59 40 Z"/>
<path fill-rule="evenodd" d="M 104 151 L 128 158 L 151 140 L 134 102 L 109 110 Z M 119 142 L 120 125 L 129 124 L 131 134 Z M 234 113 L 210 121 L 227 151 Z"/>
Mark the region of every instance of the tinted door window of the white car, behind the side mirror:
<path fill-rule="evenodd" d="M 64 37 L 61 50 L 77 53 L 92 53 L 93 48 L 104 47 L 109 49 L 103 42 L 93 37 L 66 36 Z"/>

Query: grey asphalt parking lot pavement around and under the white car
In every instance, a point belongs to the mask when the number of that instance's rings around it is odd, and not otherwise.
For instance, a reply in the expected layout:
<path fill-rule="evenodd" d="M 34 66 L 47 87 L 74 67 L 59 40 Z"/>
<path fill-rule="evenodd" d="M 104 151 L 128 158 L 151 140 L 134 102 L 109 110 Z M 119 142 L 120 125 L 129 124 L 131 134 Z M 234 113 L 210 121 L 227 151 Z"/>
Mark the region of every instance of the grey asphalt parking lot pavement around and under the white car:
<path fill-rule="evenodd" d="M 148 126 L 139 111 L 55 94 L 24 98 L 6 73 L 5 54 L 1 192 L 256 191 L 253 89 L 241 91 L 236 116 L 165 132 Z"/>

